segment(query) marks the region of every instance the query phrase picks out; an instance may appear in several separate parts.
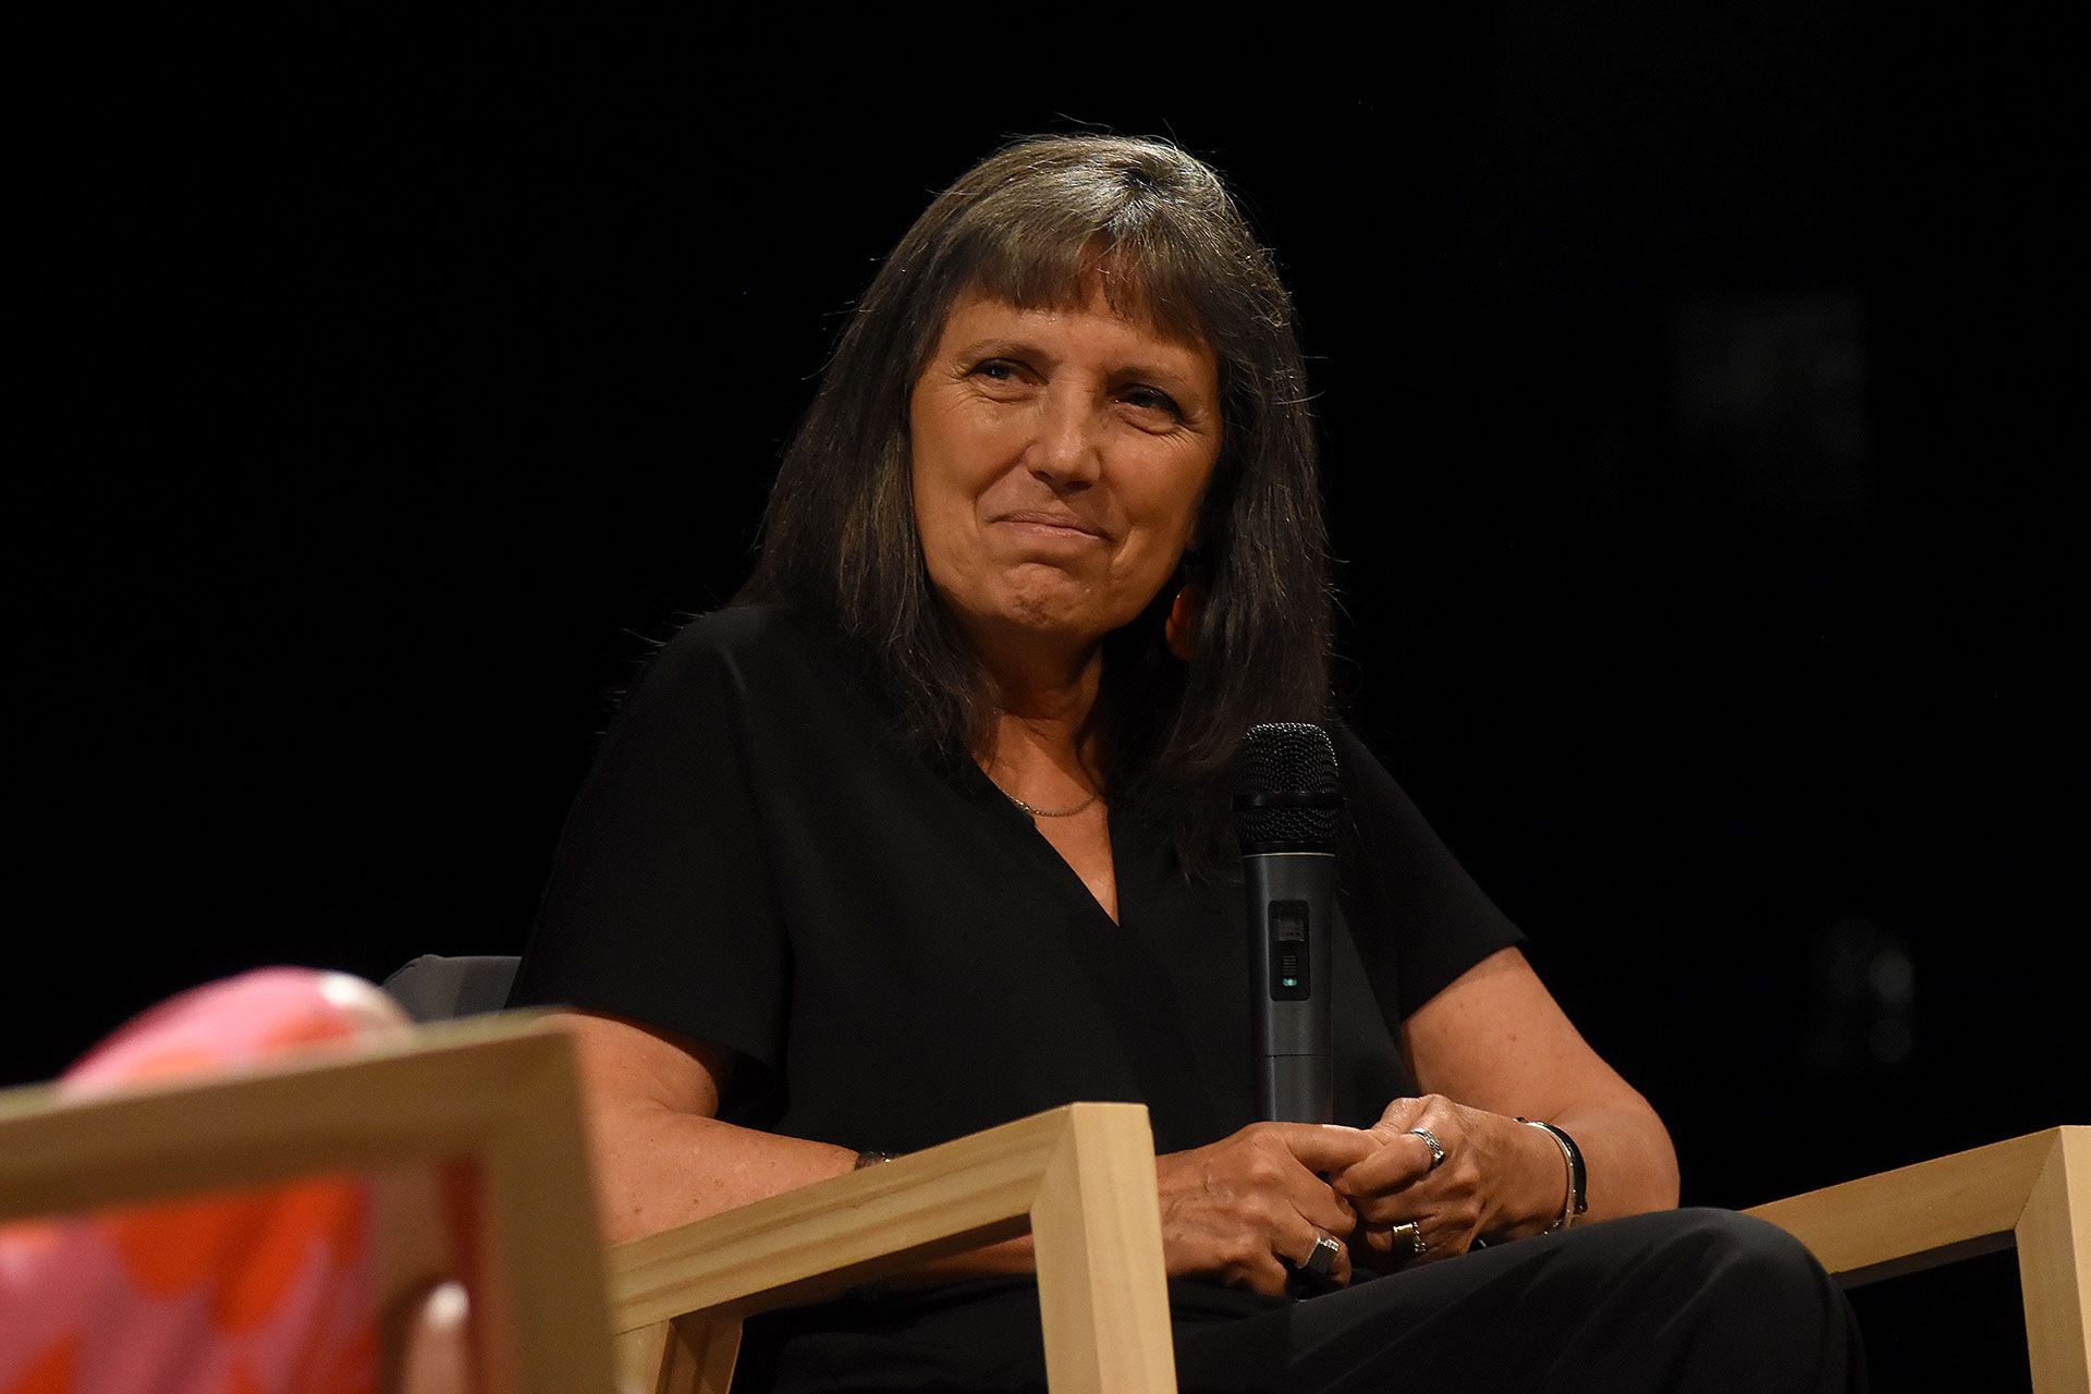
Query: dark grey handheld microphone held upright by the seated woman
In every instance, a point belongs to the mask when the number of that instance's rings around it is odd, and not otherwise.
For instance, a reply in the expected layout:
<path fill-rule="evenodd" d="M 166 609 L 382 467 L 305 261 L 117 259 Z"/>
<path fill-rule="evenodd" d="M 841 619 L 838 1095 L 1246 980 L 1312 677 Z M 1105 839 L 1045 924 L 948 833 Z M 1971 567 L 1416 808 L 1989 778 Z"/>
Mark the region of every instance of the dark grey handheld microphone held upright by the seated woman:
<path fill-rule="evenodd" d="M 1340 821 L 1328 731 L 1253 727 L 1236 771 L 1234 832 L 1248 895 L 1257 1110 L 1271 1122 L 1336 1120 L 1328 963 Z"/>

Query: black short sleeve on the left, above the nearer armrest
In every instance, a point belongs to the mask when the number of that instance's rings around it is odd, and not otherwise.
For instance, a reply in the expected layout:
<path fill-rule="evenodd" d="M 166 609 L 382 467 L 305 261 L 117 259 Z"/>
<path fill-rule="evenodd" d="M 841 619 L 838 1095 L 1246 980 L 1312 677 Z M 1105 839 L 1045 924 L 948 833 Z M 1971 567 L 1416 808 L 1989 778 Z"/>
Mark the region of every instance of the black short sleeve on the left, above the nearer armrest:
<path fill-rule="evenodd" d="M 698 621 L 625 698 L 567 815 L 510 1005 L 560 1003 L 776 1068 L 788 949 L 746 688 Z"/>

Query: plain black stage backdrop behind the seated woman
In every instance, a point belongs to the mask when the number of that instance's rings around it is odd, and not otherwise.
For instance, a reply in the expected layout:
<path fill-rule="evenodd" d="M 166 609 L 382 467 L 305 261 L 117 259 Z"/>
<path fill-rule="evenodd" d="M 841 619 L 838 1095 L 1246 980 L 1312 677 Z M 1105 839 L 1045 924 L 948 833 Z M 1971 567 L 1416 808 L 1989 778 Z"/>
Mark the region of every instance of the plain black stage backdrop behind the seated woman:
<path fill-rule="evenodd" d="M 1004 136 L 1106 127 L 1278 249 L 1349 711 L 1685 1200 L 2091 1122 L 2053 36 L 1518 6 L 1198 54 L 1094 15 L 1027 19 L 1018 77 L 958 23 L 912 73 L 514 17 L 59 65 L 0 1083 L 255 963 L 521 951 L 611 692 L 742 579 L 874 261 Z M 2009 1388 L 2016 1271 L 1972 1273 L 1867 1300 L 1955 1308 Z M 1947 1358 L 1911 1340 L 1884 1388 Z"/>

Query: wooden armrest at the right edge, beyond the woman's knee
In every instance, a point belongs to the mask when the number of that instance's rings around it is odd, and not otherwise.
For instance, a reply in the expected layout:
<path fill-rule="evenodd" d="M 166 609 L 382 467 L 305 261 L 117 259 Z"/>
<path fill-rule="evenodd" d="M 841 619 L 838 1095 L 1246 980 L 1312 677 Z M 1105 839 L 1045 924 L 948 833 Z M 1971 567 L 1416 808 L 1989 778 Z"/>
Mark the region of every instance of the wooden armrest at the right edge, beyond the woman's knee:
<path fill-rule="evenodd" d="M 2047 1129 L 1775 1200 L 1846 1287 L 2018 1248 L 2039 1394 L 2091 1394 L 2091 1126 Z"/>

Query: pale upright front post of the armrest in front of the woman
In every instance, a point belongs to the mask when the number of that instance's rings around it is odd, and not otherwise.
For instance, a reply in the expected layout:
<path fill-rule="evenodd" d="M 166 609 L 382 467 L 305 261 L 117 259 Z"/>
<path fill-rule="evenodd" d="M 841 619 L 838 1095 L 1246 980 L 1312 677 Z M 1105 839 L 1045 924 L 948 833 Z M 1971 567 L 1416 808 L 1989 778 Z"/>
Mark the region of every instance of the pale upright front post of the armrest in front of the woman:
<path fill-rule="evenodd" d="M 1031 1202 L 1054 1394 L 1175 1390 L 1154 1135 L 1144 1114 L 1075 1120 Z"/>

